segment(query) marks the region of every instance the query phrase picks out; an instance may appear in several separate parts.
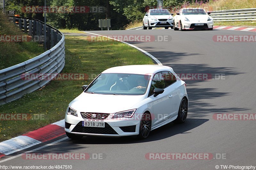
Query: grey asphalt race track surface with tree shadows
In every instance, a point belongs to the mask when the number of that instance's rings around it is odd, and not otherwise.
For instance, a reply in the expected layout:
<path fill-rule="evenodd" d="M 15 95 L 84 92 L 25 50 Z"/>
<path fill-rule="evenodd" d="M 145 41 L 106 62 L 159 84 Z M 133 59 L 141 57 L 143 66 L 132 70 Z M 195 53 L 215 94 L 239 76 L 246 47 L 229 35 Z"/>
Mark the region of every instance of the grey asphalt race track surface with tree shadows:
<path fill-rule="evenodd" d="M 149 138 L 145 140 L 84 137 L 80 141 L 65 139 L 35 151 L 36 153 L 99 153 L 102 159 L 27 160 L 17 157 L 1 165 L 72 165 L 72 169 L 77 170 L 197 170 L 216 169 L 216 165 L 219 169 L 221 165 L 256 166 L 255 120 L 213 119 L 214 113 L 256 113 L 256 42 L 215 42 L 213 40 L 215 35 L 256 35 L 254 32 L 227 30 L 181 32 L 170 29 L 91 32 L 101 35 L 155 37 L 169 35 L 168 41 L 164 42 L 131 42 L 131 44 L 152 54 L 163 65 L 172 67 L 176 73 L 203 73 L 212 75 L 216 80 L 212 78 L 186 80 L 189 97 L 186 123 L 167 124 L 152 131 Z M 220 74 L 222 74 L 222 80 L 217 80 Z M 58 139 L 64 137 L 66 136 Z M 43 145 L 45 143 L 39 146 Z M 36 145 L 32 149 L 39 146 Z M 215 159 L 151 160 L 146 159 L 148 153 L 211 153 Z M 221 159 L 219 155 L 222 155 Z"/>

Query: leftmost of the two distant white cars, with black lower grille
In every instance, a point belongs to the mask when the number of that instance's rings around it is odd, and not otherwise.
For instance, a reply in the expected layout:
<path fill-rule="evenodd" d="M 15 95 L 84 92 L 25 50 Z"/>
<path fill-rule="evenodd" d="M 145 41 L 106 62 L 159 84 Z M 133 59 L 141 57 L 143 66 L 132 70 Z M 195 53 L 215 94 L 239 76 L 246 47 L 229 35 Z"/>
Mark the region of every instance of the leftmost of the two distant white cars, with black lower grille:
<path fill-rule="evenodd" d="M 173 28 L 173 14 L 166 9 L 150 9 L 143 17 L 143 29 L 151 30 L 153 27 Z"/>

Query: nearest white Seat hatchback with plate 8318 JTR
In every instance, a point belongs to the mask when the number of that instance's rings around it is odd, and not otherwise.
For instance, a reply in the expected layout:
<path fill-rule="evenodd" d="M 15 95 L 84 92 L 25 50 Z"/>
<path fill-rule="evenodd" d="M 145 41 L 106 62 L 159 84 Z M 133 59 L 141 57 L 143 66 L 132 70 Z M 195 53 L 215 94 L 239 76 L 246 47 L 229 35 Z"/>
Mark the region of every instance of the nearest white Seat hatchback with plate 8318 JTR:
<path fill-rule="evenodd" d="M 112 67 L 82 88 L 65 114 L 68 138 L 147 138 L 150 131 L 172 121 L 184 123 L 187 118 L 186 84 L 171 67 Z"/>

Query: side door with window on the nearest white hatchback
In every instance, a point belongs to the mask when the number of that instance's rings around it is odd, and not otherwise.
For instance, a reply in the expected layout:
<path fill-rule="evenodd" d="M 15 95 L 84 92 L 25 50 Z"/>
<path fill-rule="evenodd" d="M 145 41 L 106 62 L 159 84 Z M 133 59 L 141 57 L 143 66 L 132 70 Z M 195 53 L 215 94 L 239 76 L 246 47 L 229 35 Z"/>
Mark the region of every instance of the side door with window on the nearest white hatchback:
<path fill-rule="evenodd" d="M 149 98 L 151 99 L 150 103 L 152 104 L 153 108 L 152 127 L 168 120 L 170 118 L 170 113 L 172 113 L 172 97 L 169 97 L 170 92 L 164 89 L 162 94 L 154 97 L 153 94 L 155 88 L 165 88 L 164 77 L 161 72 L 154 75 L 149 91 Z"/>

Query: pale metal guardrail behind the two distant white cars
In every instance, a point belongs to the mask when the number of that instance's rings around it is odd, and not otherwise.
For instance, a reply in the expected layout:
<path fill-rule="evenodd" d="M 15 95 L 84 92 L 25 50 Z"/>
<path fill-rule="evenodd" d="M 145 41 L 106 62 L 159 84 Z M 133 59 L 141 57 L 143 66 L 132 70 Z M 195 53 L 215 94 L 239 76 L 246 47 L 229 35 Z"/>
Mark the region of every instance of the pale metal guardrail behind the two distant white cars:
<path fill-rule="evenodd" d="M 255 21 L 256 8 L 210 11 L 214 21 Z"/>

